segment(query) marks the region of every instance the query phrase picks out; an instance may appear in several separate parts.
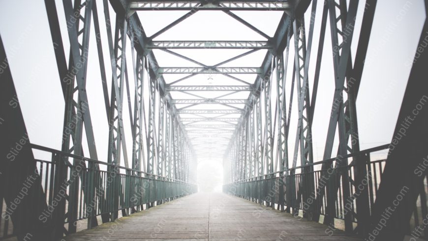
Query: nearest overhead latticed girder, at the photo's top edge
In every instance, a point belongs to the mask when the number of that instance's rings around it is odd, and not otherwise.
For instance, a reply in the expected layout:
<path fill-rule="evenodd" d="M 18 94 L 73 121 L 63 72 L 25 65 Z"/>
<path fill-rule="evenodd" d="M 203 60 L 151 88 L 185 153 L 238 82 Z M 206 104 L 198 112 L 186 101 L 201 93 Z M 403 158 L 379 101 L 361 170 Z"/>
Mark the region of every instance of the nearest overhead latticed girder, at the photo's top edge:
<path fill-rule="evenodd" d="M 201 4 L 200 1 L 142 1 L 132 0 L 130 10 L 265 10 L 284 11 L 290 3 L 284 0 L 259 1 L 216 1 L 217 3 Z"/>

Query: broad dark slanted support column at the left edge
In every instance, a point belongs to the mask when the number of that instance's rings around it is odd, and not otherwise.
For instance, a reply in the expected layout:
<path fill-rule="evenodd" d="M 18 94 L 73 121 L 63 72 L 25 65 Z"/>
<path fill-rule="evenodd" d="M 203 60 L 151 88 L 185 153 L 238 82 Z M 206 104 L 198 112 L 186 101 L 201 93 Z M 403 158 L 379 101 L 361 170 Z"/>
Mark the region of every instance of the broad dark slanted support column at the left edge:
<path fill-rule="evenodd" d="M 7 62 L 0 36 L 0 59 Z M 30 147 L 30 137 L 24 123 L 10 66 L 2 69 L 0 81 L 0 203 L 6 203 L 2 213 L 5 222 L 13 224 L 13 234 L 19 240 L 51 240 L 52 227 L 58 220 L 39 219 L 47 210 L 41 185 L 41 175 Z M 63 220 L 63 219 L 62 219 Z M 7 229 L 7 225 L 5 226 Z M 63 226 L 62 226 L 63 228 Z M 4 231 L 8 234 L 7 231 Z M 9 235 L 12 235 L 9 233 Z M 61 230 L 62 236 L 62 230 Z"/>

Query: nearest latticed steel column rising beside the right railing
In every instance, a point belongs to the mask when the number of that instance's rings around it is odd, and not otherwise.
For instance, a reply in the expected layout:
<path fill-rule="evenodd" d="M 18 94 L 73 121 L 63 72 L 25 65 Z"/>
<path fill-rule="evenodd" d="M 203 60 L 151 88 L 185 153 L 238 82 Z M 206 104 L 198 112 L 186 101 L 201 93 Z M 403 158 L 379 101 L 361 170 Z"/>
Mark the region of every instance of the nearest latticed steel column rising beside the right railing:
<path fill-rule="evenodd" d="M 349 10 L 346 12 L 346 1 L 339 0 L 339 2 L 336 2 L 335 0 L 329 0 L 328 6 L 329 6 L 329 15 L 330 15 L 330 27 L 331 27 L 331 34 L 332 34 L 332 47 L 333 47 L 333 60 L 334 60 L 334 69 L 335 69 L 335 79 L 336 79 L 336 91 L 334 94 L 334 102 L 332 107 L 332 118 L 330 119 L 329 124 L 329 130 L 327 134 L 327 141 L 326 141 L 326 149 L 324 152 L 324 158 L 328 159 L 331 157 L 331 150 L 333 147 L 334 142 L 334 136 L 336 132 L 336 125 L 338 125 L 338 131 L 339 131 L 339 149 L 338 149 L 338 160 L 336 162 L 336 165 L 338 167 L 346 167 L 348 165 L 348 160 L 340 158 L 343 155 L 346 155 L 348 153 L 348 138 L 349 136 L 352 137 L 351 141 L 353 144 L 351 148 L 356 148 L 357 150 L 351 149 L 351 152 L 355 152 L 359 150 L 359 144 L 358 144 L 358 133 L 357 126 L 356 126 L 356 112 L 350 113 L 350 116 L 345 117 L 344 113 L 344 103 L 343 103 L 343 90 L 344 90 L 344 82 L 346 75 L 349 73 L 350 68 L 352 68 L 352 63 L 350 63 L 350 45 L 351 40 L 354 32 L 354 26 L 355 26 L 355 16 L 357 13 L 357 7 L 358 7 L 358 0 L 351 1 Z M 340 16 L 336 17 L 336 8 L 339 8 Z M 340 21 L 340 22 L 339 22 Z M 342 42 L 339 43 L 339 40 Z M 352 80 L 348 79 L 347 81 L 348 87 L 352 88 L 352 85 L 354 84 Z M 355 111 L 355 96 L 351 94 L 347 103 L 350 107 L 350 110 Z M 345 121 L 349 120 L 348 122 L 348 131 L 346 130 L 346 123 Z M 349 136 L 347 136 L 347 133 L 349 133 Z M 354 140 L 357 139 L 355 142 Z M 346 168 L 341 169 L 341 182 L 343 187 L 343 200 L 345 200 L 344 205 L 349 205 L 350 202 L 350 196 L 351 196 L 351 190 L 349 186 L 349 173 Z M 336 185 L 332 191 L 329 191 L 329 195 L 331 197 L 329 198 L 330 202 L 327 205 L 327 209 L 329 211 L 328 217 L 325 219 L 329 223 L 333 223 L 333 218 L 335 215 L 334 212 L 334 206 L 335 201 L 337 198 L 337 195 L 335 195 L 336 190 L 339 188 L 340 184 L 340 177 L 336 178 Z M 342 215 L 341 213 L 337 213 L 336 215 Z M 352 212 L 345 212 L 344 213 L 345 218 L 345 231 L 350 233 L 353 231 L 352 222 Z"/>

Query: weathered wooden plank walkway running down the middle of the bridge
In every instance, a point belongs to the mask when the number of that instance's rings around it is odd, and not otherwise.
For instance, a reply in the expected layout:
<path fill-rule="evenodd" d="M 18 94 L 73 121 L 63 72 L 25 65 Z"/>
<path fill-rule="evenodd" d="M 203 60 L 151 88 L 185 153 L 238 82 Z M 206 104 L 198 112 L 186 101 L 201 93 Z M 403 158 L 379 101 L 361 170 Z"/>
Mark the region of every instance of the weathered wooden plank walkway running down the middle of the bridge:
<path fill-rule="evenodd" d="M 222 193 L 197 193 L 65 241 L 362 241 L 326 226 Z"/>

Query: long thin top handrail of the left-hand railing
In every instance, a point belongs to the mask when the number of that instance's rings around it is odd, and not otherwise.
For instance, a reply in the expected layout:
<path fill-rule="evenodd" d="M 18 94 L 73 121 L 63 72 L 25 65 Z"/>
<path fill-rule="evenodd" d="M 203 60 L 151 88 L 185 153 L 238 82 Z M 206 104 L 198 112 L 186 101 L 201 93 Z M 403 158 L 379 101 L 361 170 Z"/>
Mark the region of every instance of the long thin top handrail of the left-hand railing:
<path fill-rule="evenodd" d="M 33 144 L 33 143 L 29 143 L 31 148 L 37 149 L 37 150 L 41 150 L 41 151 L 47 151 L 47 152 L 51 152 L 51 153 L 56 153 L 56 154 L 61 154 L 63 156 L 67 156 L 67 157 L 72 157 L 72 158 L 78 158 L 81 159 L 82 161 L 90 161 L 93 163 L 97 163 L 97 164 L 101 164 L 101 165 L 106 165 L 109 167 L 114 167 L 114 168 L 120 168 L 126 171 L 131 171 L 131 172 L 138 172 L 140 174 L 145 174 L 148 176 L 152 176 L 152 177 L 158 177 L 158 178 L 164 178 L 164 179 L 169 179 L 169 180 L 173 180 L 175 182 L 181 182 L 181 183 L 185 183 L 185 184 L 192 184 L 192 185 L 196 185 L 196 183 L 191 183 L 191 182 L 186 182 L 183 180 L 178 180 L 178 179 L 174 179 L 174 178 L 170 178 L 170 177 L 165 177 L 165 176 L 160 176 L 160 175 L 156 175 L 156 174 L 151 174 L 151 173 L 147 173 L 147 172 L 142 172 L 140 170 L 136 170 L 136 169 L 132 169 L 132 168 L 126 168 L 126 167 L 121 167 L 121 166 L 117 166 L 111 163 L 107 163 L 107 162 L 101 162 L 99 160 L 95 160 L 89 157 L 84 157 L 84 156 L 79 156 L 79 155 L 75 155 L 75 154 L 71 154 L 71 153 L 66 153 L 60 150 L 56 150 L 50 147 L 46 147 L 46 146 L 41 146 L 41 145 L 37 145 L 37 144 Z"/>

